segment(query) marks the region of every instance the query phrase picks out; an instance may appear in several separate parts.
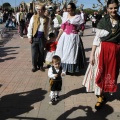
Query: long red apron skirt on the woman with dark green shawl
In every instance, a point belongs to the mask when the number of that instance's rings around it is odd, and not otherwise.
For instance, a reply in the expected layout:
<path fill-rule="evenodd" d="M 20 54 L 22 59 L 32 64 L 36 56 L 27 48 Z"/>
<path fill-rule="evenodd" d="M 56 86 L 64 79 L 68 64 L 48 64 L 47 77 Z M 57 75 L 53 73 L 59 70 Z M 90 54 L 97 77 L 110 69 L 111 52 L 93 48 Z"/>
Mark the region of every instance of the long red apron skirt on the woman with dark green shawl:
<path fill-rule="evenodd" d="M 99 56 L 96 84 L 104 92 L 117 91 L 120 69 L 120 44 L 102 42 Z"/>

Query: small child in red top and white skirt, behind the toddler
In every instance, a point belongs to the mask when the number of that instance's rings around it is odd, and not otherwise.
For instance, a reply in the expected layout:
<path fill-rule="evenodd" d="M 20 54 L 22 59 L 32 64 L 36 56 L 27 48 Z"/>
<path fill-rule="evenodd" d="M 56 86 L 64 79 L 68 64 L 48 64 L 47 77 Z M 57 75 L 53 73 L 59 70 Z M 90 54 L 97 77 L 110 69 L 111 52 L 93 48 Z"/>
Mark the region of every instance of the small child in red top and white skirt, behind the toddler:
<path fill-rule="evenodd" d="M 54 33 L 49 34 L 49 40 L 46 43 L 46 64 L 47 68 L 50 67 L 51 62 L 52 62 L 52 57 L 55 55 L 55 50 L 57 46 L 57 41 Z"/>

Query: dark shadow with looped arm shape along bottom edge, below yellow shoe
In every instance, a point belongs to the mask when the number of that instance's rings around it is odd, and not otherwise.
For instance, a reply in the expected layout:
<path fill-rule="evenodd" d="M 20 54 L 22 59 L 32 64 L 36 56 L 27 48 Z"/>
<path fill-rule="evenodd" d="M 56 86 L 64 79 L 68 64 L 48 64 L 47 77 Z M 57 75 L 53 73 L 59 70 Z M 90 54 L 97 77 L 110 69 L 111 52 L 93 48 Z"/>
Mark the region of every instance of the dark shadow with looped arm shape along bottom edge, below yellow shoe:
<path fill-rule="evenodd" d="M 76 118 L 69 118 L 69 115 L 78 111 L 80 116 Z M 84 113 L 83 113 L 84 112 Z M 105 105 L 103 109 L 99 111 L 93 111 L 89 106 L 78 106 L 73 107 L 72 109 L 66 111 L 62 115 L 60 115 L 56 120 L 108 120 L 107 116 L 114 112 L 113 108 L 109 105 Z"/>

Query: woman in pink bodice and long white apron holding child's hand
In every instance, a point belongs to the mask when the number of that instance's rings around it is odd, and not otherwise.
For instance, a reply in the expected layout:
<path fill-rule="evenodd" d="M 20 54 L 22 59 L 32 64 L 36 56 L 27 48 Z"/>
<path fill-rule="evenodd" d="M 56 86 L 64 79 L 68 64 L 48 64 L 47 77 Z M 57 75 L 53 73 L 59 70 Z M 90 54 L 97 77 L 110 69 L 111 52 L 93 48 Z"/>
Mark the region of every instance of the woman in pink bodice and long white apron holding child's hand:
<path fill-rule="evenodd" d="M 63 70 L 69 73 L 79 72 L 85 64 L 84 48 L 78 34 L 83 21 L 80 15 L 75 15 L 75 10 L 75 4 L 69 3 L 57 36 L 58 45 L 55 53 L 61 58 Z"/>

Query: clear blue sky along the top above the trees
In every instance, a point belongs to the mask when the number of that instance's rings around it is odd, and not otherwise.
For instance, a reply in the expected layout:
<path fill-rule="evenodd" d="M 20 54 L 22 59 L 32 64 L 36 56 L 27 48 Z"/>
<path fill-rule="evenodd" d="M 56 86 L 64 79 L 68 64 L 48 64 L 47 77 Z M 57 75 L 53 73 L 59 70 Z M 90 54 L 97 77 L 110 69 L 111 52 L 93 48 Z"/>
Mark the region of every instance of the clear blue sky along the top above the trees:
<path fill-rule="evenodd" d="M 32 0 L 0 0 L 0 5 L 4 2 L 9 2 L 12 6 L 15 6 L 15 4 L 18 6 L 22 1 L 30 2 Z M 101 1 L 103 2 L 104 0 Z M 97 3 L 97 0 L 78 0 L 77 5 L 84 4 L 84 8 L 92 8 L 92 5 Z"/>

